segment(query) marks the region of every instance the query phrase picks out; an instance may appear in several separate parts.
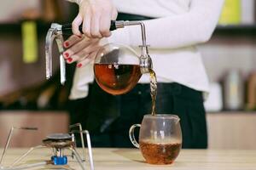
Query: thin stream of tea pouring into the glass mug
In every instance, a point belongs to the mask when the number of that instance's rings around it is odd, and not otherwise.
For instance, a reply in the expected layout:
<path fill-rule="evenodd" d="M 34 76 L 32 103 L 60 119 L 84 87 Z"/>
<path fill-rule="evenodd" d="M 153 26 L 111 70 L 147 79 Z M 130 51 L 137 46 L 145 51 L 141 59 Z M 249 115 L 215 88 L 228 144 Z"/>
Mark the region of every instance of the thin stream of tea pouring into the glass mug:
<path fill-rule="evenodd" d="M 155 72 L 150 69 L 149 70 L 149 74 L 150 74 L 150 95 L 151 95 L 151 99 L 152 99 L 152 112 L 151 114 L 153 116 L 155 116 L 155 100 L 156 100 L 156 94 L 157 94 L 157 80 L 156 80 L 156 76 L 155 76 Z"/>

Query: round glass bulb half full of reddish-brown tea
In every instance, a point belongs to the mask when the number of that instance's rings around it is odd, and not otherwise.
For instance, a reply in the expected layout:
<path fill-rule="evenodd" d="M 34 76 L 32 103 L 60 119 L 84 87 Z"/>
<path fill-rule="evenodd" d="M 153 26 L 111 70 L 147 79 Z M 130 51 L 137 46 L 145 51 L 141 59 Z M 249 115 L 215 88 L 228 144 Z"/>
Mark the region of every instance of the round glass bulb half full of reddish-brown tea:
<path fill-rule="evenodd" d="M 119 43 L 109 43 L 97 52 L 94 73 L 100 88 L 113 95 L 129 92 L 142 76 L 136 52 Z"/>

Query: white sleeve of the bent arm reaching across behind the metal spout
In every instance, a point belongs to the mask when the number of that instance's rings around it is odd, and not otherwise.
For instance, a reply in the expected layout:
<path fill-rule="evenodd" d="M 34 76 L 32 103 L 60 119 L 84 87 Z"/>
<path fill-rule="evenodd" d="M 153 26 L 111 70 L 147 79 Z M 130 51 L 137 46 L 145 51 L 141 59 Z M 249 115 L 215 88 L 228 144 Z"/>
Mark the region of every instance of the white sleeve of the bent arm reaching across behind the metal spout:
<path fill-rule="evenodd" d="M 182 48 L 207 42 L 212 36 L 224 0 L 192 0 L 189 12 L 155 20 L 144 20 L 147 42 L 151 48 Z M 142 44 L 138 26 L 113 31 L 108 42 Z"/>

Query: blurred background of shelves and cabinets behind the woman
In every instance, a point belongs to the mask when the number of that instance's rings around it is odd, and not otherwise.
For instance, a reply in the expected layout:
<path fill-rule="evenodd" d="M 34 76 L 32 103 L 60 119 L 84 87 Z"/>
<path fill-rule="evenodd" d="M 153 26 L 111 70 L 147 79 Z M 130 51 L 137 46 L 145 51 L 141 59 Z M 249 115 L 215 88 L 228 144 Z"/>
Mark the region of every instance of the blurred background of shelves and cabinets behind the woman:
<path fill-rule="evenodd" d="M 54 77 L 45 80 L 44 40 L 50 23 L 72 22 L 78 6 L 64 0 L 2 0 L 0 6 L 0 146 L 12 126 L 38 127 L 15 132 L 12 146 L 40 144 L 48 133 L 65 133 L 69 124 L 67 84 L 60 85 L 54 47 Z M 202 20 L 203 22 L 203 20 Z M 205 106 L 209 148 L 256 149 L 256 3 L 226 0 L 212 39 L 199 46 L 211 93 Z"/>

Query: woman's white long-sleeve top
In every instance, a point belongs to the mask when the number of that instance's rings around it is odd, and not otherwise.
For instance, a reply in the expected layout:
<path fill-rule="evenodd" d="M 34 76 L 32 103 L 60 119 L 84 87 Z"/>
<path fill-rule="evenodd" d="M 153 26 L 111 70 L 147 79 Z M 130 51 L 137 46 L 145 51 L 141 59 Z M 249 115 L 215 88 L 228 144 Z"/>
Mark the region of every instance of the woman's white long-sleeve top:
<path fill-rule="evenodd" d="M 208 79 L 196 45 L 212 36 L 223 3 L 224 0 L 113 0 L 119 12 L 158 18 L 143 21 L 158 82 L 178 82 L 203 92 L 208 91 Z M 140 27 L 113 31 L 108 42 L 123 43 L 139 51 Z M 77 69 L 70 99 L 85 97 L 93 80 L 93 65 Z M 139 82 L 149 82 L 149 78 L 143 76 Z"/>

